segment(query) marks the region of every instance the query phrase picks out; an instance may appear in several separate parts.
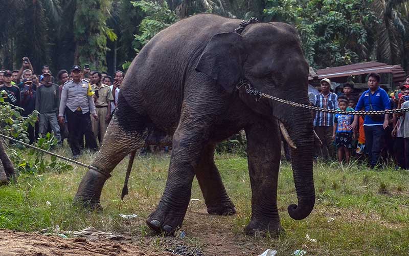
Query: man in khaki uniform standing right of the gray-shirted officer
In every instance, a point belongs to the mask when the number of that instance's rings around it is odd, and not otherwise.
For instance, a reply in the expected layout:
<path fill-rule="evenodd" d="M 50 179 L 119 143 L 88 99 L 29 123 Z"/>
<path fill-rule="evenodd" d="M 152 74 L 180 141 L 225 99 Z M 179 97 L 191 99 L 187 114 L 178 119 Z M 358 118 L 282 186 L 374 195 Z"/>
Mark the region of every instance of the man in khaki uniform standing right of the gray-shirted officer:
<path fill-rule="evenodd" d="M 108 125 L 110 113 L 111 113 L 111 101 L 113 100 L 111 89 L 106 84 L 101 82 L 102 75 L 100 72 L 94 72 L 92 75 L 92 81 L 94 84 L 91 86 L 94 92 L 95 109 L 98 115 L 98 120 L 93 119 L 93 132 L 95 140 L 99 138 L 99 144 L 102 144 Z M 98 136 L 99 135 L 99 136 Z"/>

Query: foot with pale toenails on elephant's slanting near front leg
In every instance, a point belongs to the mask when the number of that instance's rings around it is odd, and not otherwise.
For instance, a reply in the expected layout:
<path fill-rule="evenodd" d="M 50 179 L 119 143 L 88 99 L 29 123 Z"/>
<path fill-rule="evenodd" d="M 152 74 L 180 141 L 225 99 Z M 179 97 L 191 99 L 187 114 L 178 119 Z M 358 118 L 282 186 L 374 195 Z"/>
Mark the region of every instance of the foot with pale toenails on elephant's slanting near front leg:
<path fill-rule="evenodd" d="M 185 214 L 186 209 L 171 207 L 161 201 L 156 210 L 148 216 L 146 224 L 156 233 L 171 236 L 182 226 Z"/>

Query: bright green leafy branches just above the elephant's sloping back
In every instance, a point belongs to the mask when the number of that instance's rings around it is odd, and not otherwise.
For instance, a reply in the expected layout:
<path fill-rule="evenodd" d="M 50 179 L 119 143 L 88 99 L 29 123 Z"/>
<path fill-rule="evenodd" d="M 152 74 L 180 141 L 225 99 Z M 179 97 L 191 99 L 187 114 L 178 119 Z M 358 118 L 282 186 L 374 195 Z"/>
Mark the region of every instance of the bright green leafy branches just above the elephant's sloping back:
<path fill-rule="evenodd" d="M 162 5 L 157 2 L 144 0 L 131 3 L 134 7 L 139 7 L 146 14 L 146 17 L 139 25 L 139 34 L 135 34 L 133 46 L 137 52 L 158 32 L 178 20 L 176 14 L 169 10 L 166 2 L 163 2 Z"/>

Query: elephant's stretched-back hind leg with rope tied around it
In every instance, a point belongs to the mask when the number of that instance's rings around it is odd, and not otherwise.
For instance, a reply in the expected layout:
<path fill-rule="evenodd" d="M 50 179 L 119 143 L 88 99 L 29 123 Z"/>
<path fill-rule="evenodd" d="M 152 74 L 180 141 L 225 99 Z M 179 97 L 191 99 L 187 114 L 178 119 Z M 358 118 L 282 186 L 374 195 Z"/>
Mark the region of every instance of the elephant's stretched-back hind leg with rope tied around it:
<path fill-rule="evenodd" d="M 119 125 L 117 115 L 114 115 L 92 166 L 97 167 L 103 173 L 110 174 L 126 155 L 144 146 L 146 137 L 147 129 L 126 131 L 122 125 Z M 106 180 L 105 175 L 89 169 L 82 178 L 74 201 L 79 205 L 102 209 L 100 196 Z"/>

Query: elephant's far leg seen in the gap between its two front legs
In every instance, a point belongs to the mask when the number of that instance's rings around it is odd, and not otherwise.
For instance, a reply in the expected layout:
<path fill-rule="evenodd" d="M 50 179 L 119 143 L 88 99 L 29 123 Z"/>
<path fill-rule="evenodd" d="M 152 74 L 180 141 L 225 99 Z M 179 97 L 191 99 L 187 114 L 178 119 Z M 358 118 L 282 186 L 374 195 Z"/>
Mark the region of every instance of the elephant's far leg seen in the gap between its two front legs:
<path fill-rule="evenodd" d="M 226 193 L 214 162 L 214 145 L 208 145 L 200 157 L 195 174 L 209 214 L 233 215 L 236 208 Z"/>

